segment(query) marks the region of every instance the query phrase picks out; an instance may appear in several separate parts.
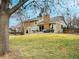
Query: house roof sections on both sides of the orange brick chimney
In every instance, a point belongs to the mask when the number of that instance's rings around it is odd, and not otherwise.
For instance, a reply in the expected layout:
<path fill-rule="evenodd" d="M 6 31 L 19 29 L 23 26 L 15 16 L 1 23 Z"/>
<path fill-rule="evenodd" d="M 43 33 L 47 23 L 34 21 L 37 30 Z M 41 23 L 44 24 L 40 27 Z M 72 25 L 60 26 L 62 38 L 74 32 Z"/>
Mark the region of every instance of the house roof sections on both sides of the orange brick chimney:
<path fill-rule="evenodd" d="M 62 25 L 66 25 L 64 23 L 64 17 L 63 16 L 56 16 L 56 17 L 51 17 L 50 18 L 50 24 L 56 24 L 56 23 L 61 23 Z M 38 18 L 34 18 L 34 19 L 28 19 L 23 21 L 24 23 L 28 23 L 28 22 L 35 22 L 37 21 L 37 25 L 42 25 L 44 24 L 44 20 L 42 19 L 42 17 L 38 17 Z"/>

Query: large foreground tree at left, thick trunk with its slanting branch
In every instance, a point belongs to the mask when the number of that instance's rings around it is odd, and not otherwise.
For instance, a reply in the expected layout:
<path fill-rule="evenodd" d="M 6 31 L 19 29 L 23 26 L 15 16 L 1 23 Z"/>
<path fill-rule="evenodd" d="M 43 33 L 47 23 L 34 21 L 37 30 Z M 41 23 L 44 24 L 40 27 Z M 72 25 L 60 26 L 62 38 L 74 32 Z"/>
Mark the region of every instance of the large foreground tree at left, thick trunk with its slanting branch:
<path fill-rule="evenodd" d="M 9 8 L 11 0 L 0 0 L 0 55 L 4 55 L 9 50 L 9 17 L 18 10 L 28 0 L 19 0 L 17 5 Z"/>

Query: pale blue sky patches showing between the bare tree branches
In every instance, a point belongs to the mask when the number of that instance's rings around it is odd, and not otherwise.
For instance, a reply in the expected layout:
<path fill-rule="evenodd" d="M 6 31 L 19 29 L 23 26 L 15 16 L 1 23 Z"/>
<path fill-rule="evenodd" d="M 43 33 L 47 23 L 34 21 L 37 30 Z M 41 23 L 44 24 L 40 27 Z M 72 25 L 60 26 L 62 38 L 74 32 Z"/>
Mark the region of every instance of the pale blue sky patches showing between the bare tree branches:
<path fill-rule="evenodd" d="M 32 1 L 32 0 L 30 0 L 30 1 Z M 64 5 L 62 5 L 63 7 L 69 8 L 70 14 L 72 14 L 72 15 L 76 14 L 77 16 L 79 16 L 79 0 L 62 0 L 62 2 L 64 3 Z M 12 0 L 13 6 L 15 6 L 17 3 L 18 3 L 18 0 Z M 55 3 L 57 3 L 57 0 L 55 0 Z M 27 4 L 27 3 L 25 3 L 25 4 Z M 50 16 L 54 17 L 54 16 L 61 15 L 60 13 L 57 13 L 56 11 L 60 11 L 61 13 L 66 12 L 66 10 L 64 8 L 61 8 L 59 5 L 56 5 L 55 7 L 56 7 L 56 9 L 54 7 L 51 7 L 52 12 L 50 13 Z M 28 8 L 26 11 L 27 11 L 28 17 L 30 17 L 30 18 L 37 17 L 37 15 L 40 12 L 39 10 L 37 10 L 37 13 L 34 14 L 33 13 L 34 11 L 32 9 L 29 10 Z M 17 23 L 18 23 L 17 17 L 18 16 L 10 17 L 10 21 L 9 21 L 10 27 L 17 25 Z"/>

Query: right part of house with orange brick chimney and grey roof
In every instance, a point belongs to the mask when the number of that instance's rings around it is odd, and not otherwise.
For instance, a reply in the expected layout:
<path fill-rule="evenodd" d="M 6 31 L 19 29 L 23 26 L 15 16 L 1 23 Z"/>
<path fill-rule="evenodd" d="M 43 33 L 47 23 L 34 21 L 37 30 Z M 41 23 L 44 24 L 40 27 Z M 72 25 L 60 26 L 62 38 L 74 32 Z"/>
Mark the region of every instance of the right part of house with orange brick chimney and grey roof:
<path fill-rule="evenodd" d="M 50 20 L 40 20 L 38 22 L 39 30 L 43 31 L 44 29 L 53 29 L 54 33 L 60 33 L 63 32 L 63 27 L 66 27 L 66 24 L 64 23 L 64 17 L 63 16 L 56 16 L 53 18 L 50 18 Z"/>

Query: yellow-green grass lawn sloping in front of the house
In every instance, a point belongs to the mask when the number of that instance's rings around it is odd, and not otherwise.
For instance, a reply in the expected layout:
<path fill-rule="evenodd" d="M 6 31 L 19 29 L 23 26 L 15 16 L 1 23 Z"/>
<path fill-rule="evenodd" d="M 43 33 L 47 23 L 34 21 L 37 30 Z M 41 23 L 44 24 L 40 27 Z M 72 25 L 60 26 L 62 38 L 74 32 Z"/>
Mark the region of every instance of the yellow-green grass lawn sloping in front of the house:
<path fill-rule="evenodd" d="M 79 59 L 79 35 L 11 35 L 10 48 L 17 50 L 21 59 Z"/>

